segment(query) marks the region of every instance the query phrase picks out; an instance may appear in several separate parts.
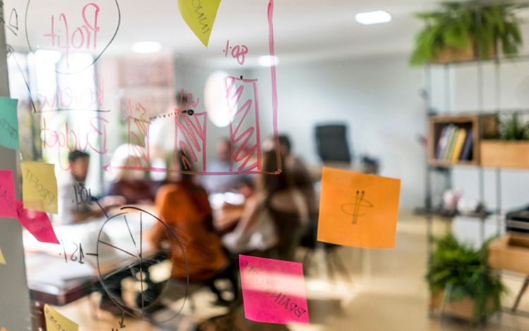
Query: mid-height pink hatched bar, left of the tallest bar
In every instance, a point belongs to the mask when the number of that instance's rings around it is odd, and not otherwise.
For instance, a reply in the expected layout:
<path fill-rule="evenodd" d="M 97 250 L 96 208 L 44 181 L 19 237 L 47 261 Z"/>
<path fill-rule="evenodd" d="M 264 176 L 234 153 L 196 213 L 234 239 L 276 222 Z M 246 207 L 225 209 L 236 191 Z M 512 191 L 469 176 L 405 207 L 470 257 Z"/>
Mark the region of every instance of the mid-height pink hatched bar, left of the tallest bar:
<path fill-rule="evenodd" d="M 196 163 L 202 163 L 202 171 L 207 171 L 207 113 L 193 113 L 192 116 L 180 113 L 175 116 L 176 146 L 190 160 L 185 161 L 186 171 L 195 170 Z M 201 161 L 201 162 L 200 162 Z"/>

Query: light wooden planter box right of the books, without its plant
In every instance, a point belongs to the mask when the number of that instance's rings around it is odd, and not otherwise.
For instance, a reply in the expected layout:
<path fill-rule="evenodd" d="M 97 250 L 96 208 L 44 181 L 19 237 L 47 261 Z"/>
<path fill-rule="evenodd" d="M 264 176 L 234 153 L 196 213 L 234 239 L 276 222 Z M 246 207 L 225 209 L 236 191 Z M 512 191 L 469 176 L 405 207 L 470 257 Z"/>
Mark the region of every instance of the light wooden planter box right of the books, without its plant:
<path fill-rule="evenodd" d="M 482 140 L 481 164 L 498 168 L 529 168 L 529 141 Z"/>

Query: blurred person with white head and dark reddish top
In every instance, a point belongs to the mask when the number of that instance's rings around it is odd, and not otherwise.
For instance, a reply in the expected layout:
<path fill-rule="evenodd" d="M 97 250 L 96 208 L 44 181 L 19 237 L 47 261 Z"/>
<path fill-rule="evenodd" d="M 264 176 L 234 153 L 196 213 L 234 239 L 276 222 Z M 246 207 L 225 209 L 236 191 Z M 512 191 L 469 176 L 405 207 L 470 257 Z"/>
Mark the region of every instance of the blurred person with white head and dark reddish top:
<path fill-rule="evenodd" d="M 134 169 L 142 164 L 138 155 L 141 149 L 141 146 L 123 144 L 112 154 L 111 165 L 115 170 L 108 194 L 122 196 L 125 204 L 152 204 L 154 201 L 154 183 L 143 170 Z"/>

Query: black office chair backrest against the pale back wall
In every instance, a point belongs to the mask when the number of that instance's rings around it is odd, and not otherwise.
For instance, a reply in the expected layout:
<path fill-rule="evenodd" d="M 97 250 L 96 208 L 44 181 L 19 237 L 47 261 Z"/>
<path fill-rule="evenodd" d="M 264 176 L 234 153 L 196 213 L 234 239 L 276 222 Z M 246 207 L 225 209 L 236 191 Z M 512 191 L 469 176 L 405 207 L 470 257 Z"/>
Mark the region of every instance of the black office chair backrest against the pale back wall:
<path fill-rule="evenodd" d="M 318 155 L 322 161 L 351 162 L 347 125 L 317 125 L 315 135 Z"/>

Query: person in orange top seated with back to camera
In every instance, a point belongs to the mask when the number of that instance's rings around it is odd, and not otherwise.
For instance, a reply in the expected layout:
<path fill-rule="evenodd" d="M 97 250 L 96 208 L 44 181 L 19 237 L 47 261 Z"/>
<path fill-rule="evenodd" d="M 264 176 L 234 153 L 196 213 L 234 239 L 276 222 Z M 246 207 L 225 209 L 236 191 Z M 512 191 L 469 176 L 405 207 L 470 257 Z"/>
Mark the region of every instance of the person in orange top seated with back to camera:
<path fill-rule="evenodd" d="M 178 160 L 181 169 L 186 168 L 182 158 L 185 156 L 180 152 Z M 159 217 L 181 241 L 186 252 L 190 282 L 205 282 L 217 294 L 219 301 L 223 301 L 212 279 L 226 269 L 229 261 L 214 232 L 212 208 L 205 189 L 194 182 L 192 175 L 180 174 L 176 182 L 159 189 L 156 208 Z M 154 225 L 150 235 L 154 246 L 162 249 L 164 242 L 170 240 L 162 223 Z M 171 261 L 171 279 L 186 280 L 185 259 L 181 247 L 174 240 L 171 244 Z M 230 280 L 232 285 L 236 284 L 233 278 Z"/>

